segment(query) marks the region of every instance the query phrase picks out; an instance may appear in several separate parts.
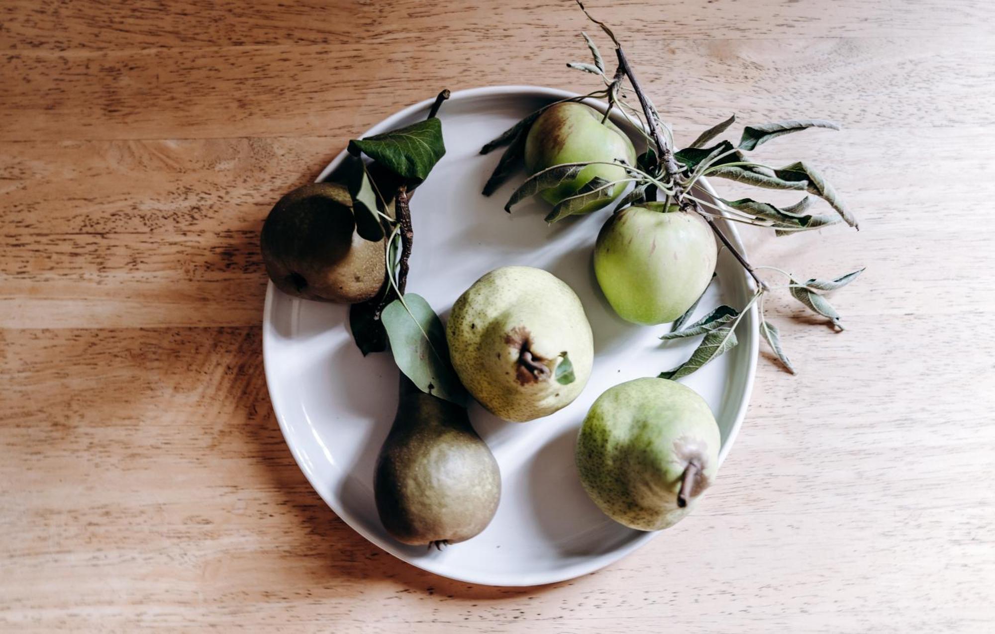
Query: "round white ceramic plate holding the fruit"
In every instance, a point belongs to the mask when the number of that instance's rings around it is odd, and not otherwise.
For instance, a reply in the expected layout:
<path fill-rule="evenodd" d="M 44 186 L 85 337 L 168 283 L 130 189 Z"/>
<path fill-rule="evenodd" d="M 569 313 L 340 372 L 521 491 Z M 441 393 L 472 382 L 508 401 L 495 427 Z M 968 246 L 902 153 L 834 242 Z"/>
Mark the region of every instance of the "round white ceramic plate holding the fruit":
<path fill-rule="evenodd" d="M 661 346 L 668 326 L 622 321 L 598 289 L 591 250 L 607 212 L 543 222 L 542 203 L 502 210 L 517 183 L 491 198 L 481 189 L 500 151 L 481 146 L 551 100 L 572 93 L 533 86 L 494 86 L 455 92 L 440 117 L 446 156 L 412 200 L 415 231 L 408 290 L 424 296 L 445 319 L 478 277 L 506 264 L 544 268 L 579 295 L 594 331 L 594 372 L 569 406 L 527 423 L 498 420 L 474 403 L 470 416 L 500 465 L 497 515 L 481 535 L 436 552 L 394 542 L 373 502 L 373 467 L 397 405 L 397 369 L 389 353 L 366 358 L 348 331 L 348 307 L 299 300 L 271 283 L 266 295 L 263 351 L 270 397 L 281 429 L 314 490 L 350 527 L 387 551 L 437 574 L 473 583 L 534 585 L 579 576 L 632 553 L 657 537 L 627 529 L 587 498 L 573 460 L 574 442 L 592 401 L 608 388 L 652 377 L 687 359 L 697 338 Z M 432 99 L 406 108 L 360 136 L 427 116 Z M 624 121 L 616 123 L 628 128 Z M 635 136 L 634 136 L 635 138 Z M 343 141 L 344 144 L 344 141 Z M 324 170 L 323 179 L 344 152 Z M 738 241 L 730 223 L 722 229 Z M 733 257 L 718 258 L 718 277 L 698 305 L 703 314 L 726 303 L 742 306 L 752 286 Z M 710 405 L 721 428 L 724 459 L 746 411 L 758 348 L 755 309 L 743 318 L 740 344 L 683 380 Z M 667 539 L 666 532 L 662 539 Z"/>

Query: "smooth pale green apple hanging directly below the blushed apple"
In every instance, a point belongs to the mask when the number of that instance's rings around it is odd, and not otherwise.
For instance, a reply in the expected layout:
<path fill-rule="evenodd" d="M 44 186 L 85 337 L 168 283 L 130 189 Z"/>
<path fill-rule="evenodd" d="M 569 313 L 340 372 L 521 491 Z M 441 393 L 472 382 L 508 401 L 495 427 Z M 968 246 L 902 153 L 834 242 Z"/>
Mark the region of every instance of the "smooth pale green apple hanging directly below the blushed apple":
<path fill-rule="evenodd" d="M 672 205 L 644 203 L 612 215 L 594 246 L 594 273 L 615 312 L 666 324 L 704 292 L 718 249 L 707 223 Z"/>

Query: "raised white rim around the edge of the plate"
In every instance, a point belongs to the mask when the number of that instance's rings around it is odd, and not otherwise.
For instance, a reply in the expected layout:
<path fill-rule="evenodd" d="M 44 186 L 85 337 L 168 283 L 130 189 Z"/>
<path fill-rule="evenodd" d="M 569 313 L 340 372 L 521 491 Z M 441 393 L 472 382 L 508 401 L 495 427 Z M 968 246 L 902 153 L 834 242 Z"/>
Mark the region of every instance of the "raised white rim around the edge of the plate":
<path fill-rule="evenodd" d="M 481 86 L 475 88 L 466 88 L 462 90 L 455 90 L 450 94 L 450 100 L 474 99 L 485 96 L 491 96 L 495 94 L 502 94 L 507 96 L 508 98 L 515 98 L 522 96 L 526 97 L 539 96 L 539 97 L 552 97 L 554 99 L 562 99 L 573 96 L 579 96 L 579 93 L 577 92 L 572 92 L 570 90 L 563 90 L 560 88 L 552 88 L 552 87 L 538 86 L 538 85 L 527 85 L 527 84 L 509 84 L 509 85 L 489 85 L 489 86 Z M 409 105 L 405 108 L 402 108 L 401 110 L 398 110 L 397 112 L 394 112 L 393 114 L 390 114 L 386 118 L 381 119 L 380 121 L 373 124 L 369 129 L 361 133 L 358 138 L 362 138 L 364 136 L 369 136 L 372 134 L 377 134 L 381 131 L 385 131 L 386 129 L 390 129 L 391 127 L 395 126 L 395 123 L 397 121 L 403 120 L 416 112 L 422 110 L 427 111 L 434 102 L 435 102 L 435 97 L 431 97 L 419 101 L 417 103 L 414 103 L 412 105 Z M 588 103 L 589 105 L 592 105 L 593 107 L 597 107 L 601 111 L 604 111 L 604 109 L 607 107 L 606 104 L 596 101 L 594 99 L 585 99 L 584 102 Z M 613 114 L 612 118 L 613 119 L 616 118 L 616 115 Z M 629 124 L 633 125 L 631 121 L 629 122 Z M 332 171 L 335 170 L 335 168 L 338 167 L 338 165 L 345 159 L 346 155 L 347 152 L 345 149 L 342 149 L 338 154 L 336 154 L 335 157 L 332 158 L 332 160 L 328 163 L 328 165 L 326 165 L 324 169 L 321 170 L 321 173 L 318 174 L 314 182 L 320 182 L 324 180 Z M 703 177 L 698 179 L 698 183 L 709 195 L 711 195 L 713 198 L 717 198 L 717 195 L 715 194 L 714 190 L 711 188 L 710 184 Z M 729 240 L 733 244 L 735 244 L 736 247 L 738 247 L 741 252 L 744 252 L 742 241 L 739 238 L 739 233 L 736 231 L 736 228 L 732 225 L 732 223 L 729 223 L 724 219 L 719 219 L 717 221 L 717 224 L 721 225 L 721 229 L 725 234 L 725 236 L 729 238 Z M 753 282 L 753 280 L 749 277 L 749 275 L 746 273 L 745 270 L 742 272 L 742 274 L 747 291 L 755 292 L 756 285 Z M 602 555 L 591 555 L 587 558 L 582 559 L 579 562 L 574 562 L 560 568 L 555 568 L 551 570 L 549 573 L 546 573 L 545 575 L 538 575 L 536 573 L 526 574 L 524 575 L 524 578 L 521 580 L 521 582 L 514 582 L 514 581 L 509 582 L 506 579 L 495 579 L 489 577 L 488 575 L 478 575 L 473 573 L 461 574 L 459 571 L 453 571 L 451 569 L 452 566 L 450 565 L 441 564 L 441 562 L 433 564 L 432 560 L 412 561 L 403 552 L 401 552 L 396 547 L 396 545 L 391 544 L 388 541 L 382 540 L 378 536 L 367 532 L 363 527 L 362 522 L 359 522 L 356 518 L 354 518 L 352 514 L 348 511 L 348 509 L 346 509 L 342 505 L 337 504 L 337 500 L 333 500 L 330 498 L 330 496 L 326 496 L 322 492 L 321 487 L 317 486 L 317 483 L 313 478 L 311 470 L 306 466 L 305 461 L 302 458 L 299 447 L 296 446 L 296 443 L 291 441 L 291 435 L 292 435 L 290 433 L 291 424 L 287 420 L 286 412 L 281 412 L 280 408 L 278 407 L 277 403 L 280 399 L 274 396 L 275 394 L 279 394 L 280 392 L 279 389 L 277 389 L 276 387 L 277 379 L 275 377 L 276 371 L 273 368 L 274 364 L 272 362 L 268 363 L 268 359 L 272 359 L 274 355 L 274 353 L 271 353 L 270 350 L 272 346 L 275 345 L 274 344 L 275 322 L 273 319 L 273 310 L 275 305 L 274 298 L 276 296 L 276 291 L 277 288 L 274 285 L 273 281 L 267 280 L 266 301 L 263 306 L 263 324 L 262 324 L 263 369 L 264 369 L 264 374 L 266 376 L 267 394 L 268 396 L 270 396 L 270 404 L 273 407 L 273 411 L 277 416 L 277 422 L 280 425 L 280 431 L 284 436 L 284 442 L 287 444 L 288 449 L 290 449 L 291 455 L 294 457 L 294 461 L 298 465 L 298 469 L 300 469 L 301 473 L 304 474 L 304 477 L 307 479 L 307 483 L 310 484 L 311 489 L 314 490 L 314 492 L 318 495 L 318 497 L 321 498 L 321 500 L 328 506 L 328 508 L 331 509 L 331 511 L 342 522 L 344 522 L 346 526 L 348 526 L 351 530 L 358 533 L 369 543 L 385 551 L 389 555 L 397 557 L 398 559 L 404 561 L 409 565 L 413 565 L 423 570 L 426 570 L 427 572 L 455 579 L 457 581 L 464 581 L 467 583 L 474 583 L 478 585 L 490 585 L 495 587 L 529 587 L 536 585 L 544 585 L 548 583 L 556 583 L 576 578 L 579 576 L 583 576 L 585 574 L 590 574 L 591 572 L 597 571 L 607 565 L 610 565 L 618 561 L 619 559 L 623 558 L 626 555 L 630 555 L 631 553 L 642 548 L 643 546 L 645 546 L 647 543 L 649 543 L 651 540 L 655 539 L 662 533 L 662 531 L 653 531 L 653 532 L 644 533 L 639 538 L 632 540 L 627 545 L 619 549 L 616 549 L 614 551 L 611 551 L 610 553 L 605 553 Z M 748 337 L 749 341 L 747 342 L 748 353 L 747 353 L 746 381 L 743 386 L 743 398 L 739 401 L 738 405 L 736 406 L 735 415 L 733 417 L 732 424 L 729 427 L 728 436 L 723 446 L 719 449 L 718 453 L 719 466 L 721 466 L 722 462 L 725 461 L 725 458 L 728 455 L 729 450 L 731 450 L 732 448 L 732 444 L 735 442 L 736 437 L 739 434 L 739 429 L 742 426 L 743 419 L 746 416 L 746 410 L 749 407 L 749 401 L 751 399 L 753 392 L 753 382 L 756 376 L 756 366 L 759 356 L 759 345 L 760 345 L 759 342 L 760 333 L 759 333 L 759 323 L 757 318 L 756 303 L 754 303 L 747 311 L 746 317 L 748 320 L 747 327 L 750 336 Z"/>

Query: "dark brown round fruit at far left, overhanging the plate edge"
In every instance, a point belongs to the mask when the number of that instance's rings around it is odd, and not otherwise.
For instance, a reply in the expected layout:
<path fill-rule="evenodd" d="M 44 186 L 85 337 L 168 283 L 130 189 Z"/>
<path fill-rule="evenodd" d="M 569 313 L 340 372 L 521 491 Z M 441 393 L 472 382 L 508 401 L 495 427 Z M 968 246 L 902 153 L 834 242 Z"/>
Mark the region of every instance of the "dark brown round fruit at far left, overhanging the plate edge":
<path fill-rule="evenodd" d="M 355 233 L 344 185 L 312 183 L 284 196 L 263 225 L 266 271 L 289 295 L 354 304 L 380 290 L 386 240 Z"/>

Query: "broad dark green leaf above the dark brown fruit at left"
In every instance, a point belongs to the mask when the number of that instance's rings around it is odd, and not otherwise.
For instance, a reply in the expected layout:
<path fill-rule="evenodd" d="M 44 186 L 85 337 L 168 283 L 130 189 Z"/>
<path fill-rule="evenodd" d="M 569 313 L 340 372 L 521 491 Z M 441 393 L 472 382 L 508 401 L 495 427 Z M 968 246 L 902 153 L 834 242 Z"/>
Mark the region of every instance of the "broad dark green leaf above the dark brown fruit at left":
<path fill-rule="evenodd" d="M 431 117 L 397 130 L 349 141 L 349 153 L 363 152 L 407 179 L 424 181 L 446 154 L 442 121 Z"/>

